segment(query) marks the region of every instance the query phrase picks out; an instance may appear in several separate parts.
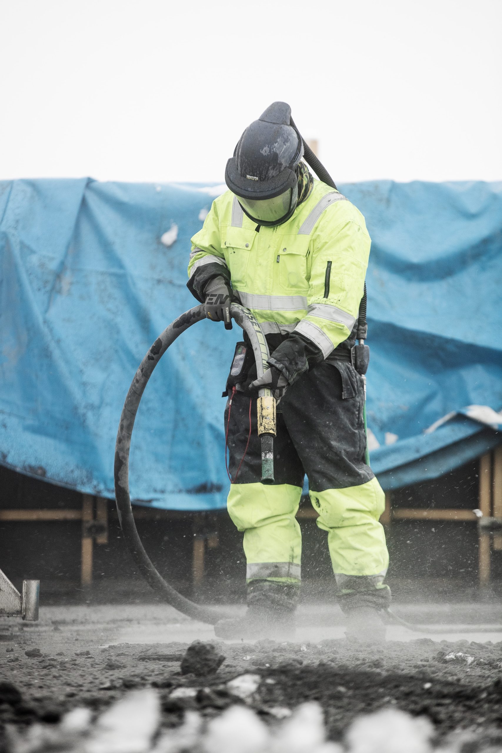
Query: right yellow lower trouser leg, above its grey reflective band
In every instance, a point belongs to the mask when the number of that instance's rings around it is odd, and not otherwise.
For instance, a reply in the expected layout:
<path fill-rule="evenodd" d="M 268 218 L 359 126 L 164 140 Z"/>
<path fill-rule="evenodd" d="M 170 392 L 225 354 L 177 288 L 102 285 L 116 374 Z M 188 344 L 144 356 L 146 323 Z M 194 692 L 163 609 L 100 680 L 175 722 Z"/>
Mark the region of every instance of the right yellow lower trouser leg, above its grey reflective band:
<path fill-rule="evenodd" d="M 385 494 L 376 478 L 361 486 L 310 492 L 327 531 L 333 572 L 344 575 L 377 575 L 388 567 L 385 532 L 379 517 L 385 510 Z"/>

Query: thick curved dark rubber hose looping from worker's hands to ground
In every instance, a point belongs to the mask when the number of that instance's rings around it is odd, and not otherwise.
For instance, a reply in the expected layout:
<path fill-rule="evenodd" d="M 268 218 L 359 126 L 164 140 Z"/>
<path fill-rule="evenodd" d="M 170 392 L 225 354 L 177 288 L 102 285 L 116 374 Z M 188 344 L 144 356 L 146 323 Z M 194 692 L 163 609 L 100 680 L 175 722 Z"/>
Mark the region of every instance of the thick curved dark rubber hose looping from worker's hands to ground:
<path fill-rule="evenodd" d="M 257 374 L 261 377 L 264 368 L 267 368 L 266 361 L 269 358 L 269 349 L 266 344 L 265 337 L 261 331 L 260 325 L 257 323 L 251 312 L 248 312 L 243 306 L 232 304 L 230 312 L 235 319 L 236 323 L 242 327 L 242 329 L 248 334 L 251 345 L 253 346 L 254 357 L 256 359 Z M 225 617 L 221 611 L 211 609 L 199 604 L 191 602 L 190 599 L 186 599 L 178 593 L 175 588 L 169 585 L 162 575 L 157 571 L 150 557 L 145 551 L 145 547 L 141 544 L 138 531 L 135 526 L 134 516 L 132 514 L 131 498 L 129 496 L 129 450 L 131 447 L 132 429 L 134 428 L 134 421 L 136 413 L 138 412 L 141 396 L 145 392 L 145 387 L 148 384 L 148 380 L 151 377 L 154 368 L 157 366 L 160 358 L 164 355 L 166 350 L 176 340 L 181 333 L 187 330 L 196 322 L 200 322 L 201 319 L 205 319 L 204 306 L 195 306 L 190 311 L 178 316 L 172 324 L 166 328 L 160 337 L 157 337 L 154 344 L 149 349 L 145 358 L 141 361 L 138 370 L 135 373 L 135 377 L 132 380 L 132 384 L 129 387 L 126 401 L 123 405 L 122 415 L 120 416 L 120 424 L 117 431 L 117 443 L 115 444 L 115 465 L 114 465 L 114 478 L 115 478 L 115 500 L 117 501 L 117 513 L 126 544 L 129 547 L 129 551 L 132 554 L 136 565 L 141 572 L 141 575 L 148 581 L 148 584 L 156 591 L 160 596 L 165 599 L 168 604 L 173 606 L 178 611 L 187 614 L 188 617 L 192 617 L 194 620 L 200 620 L 201 622 L 210 623 L 214 625 Z"/>

